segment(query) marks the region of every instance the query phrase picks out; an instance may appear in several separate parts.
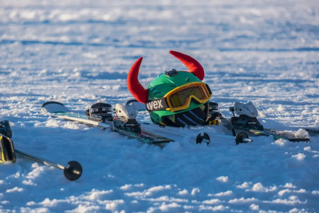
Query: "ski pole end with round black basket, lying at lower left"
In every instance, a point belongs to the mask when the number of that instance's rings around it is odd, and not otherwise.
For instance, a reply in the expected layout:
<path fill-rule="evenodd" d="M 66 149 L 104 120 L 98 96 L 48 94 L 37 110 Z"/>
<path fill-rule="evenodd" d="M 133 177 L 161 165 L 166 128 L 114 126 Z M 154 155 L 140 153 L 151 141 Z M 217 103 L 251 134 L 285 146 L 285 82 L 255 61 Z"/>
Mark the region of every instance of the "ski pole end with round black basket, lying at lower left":
<path fill-rule="evenodd" d="M 29 155 L 29 154 L 27 154 L 25 152 L 21 152 L 17 149 L 15 149 L 14 151 L 15 151 L 15 154 L 18 156 L 24 157 L 26 159 L 29 159 L 29 160 L 32 160 L 32 161 L 35 161 L 35 162 L 38 162 L 41 164 L 45 164 L 48 166 L 53 166 L 53 167 L 58 168 L 58 169 L 62 169 L 65 178 L 68 180 L 77 180 L 82 175 L 82 166 L 77 161 L 70 161 L 68 163 L 69 167 L 67 168 L 66 166 L 63 166 L 61 164 L 57 164 L 57 163 L 54 163 L 52 161 L 48 161 L 48 160 L 40 158 L 40 157 Z"/>

